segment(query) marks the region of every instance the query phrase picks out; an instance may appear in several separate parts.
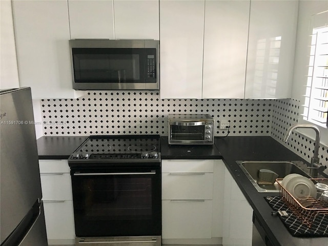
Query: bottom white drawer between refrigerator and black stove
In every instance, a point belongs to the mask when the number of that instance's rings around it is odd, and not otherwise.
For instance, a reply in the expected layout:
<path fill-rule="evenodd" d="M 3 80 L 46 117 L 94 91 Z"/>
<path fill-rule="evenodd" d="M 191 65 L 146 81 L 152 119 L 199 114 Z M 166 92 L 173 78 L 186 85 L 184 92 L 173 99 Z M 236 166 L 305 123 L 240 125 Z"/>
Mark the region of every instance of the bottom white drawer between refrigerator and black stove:
<path fill-rule="evenodd" d="M 73 201 L 44 201 L 47 238 L 74 239 Z"/>

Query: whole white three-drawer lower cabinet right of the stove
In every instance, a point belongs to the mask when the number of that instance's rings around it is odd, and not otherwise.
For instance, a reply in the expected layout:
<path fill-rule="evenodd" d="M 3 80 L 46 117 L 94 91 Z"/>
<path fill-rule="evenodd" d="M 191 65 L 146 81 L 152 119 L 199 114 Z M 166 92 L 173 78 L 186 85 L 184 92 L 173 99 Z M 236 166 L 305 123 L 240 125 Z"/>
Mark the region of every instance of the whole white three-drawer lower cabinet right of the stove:
<path fill-rule="evenodd" d="M 162 160 L 163 243 L 221 243 L 223 168 L 222 160 Z"/>

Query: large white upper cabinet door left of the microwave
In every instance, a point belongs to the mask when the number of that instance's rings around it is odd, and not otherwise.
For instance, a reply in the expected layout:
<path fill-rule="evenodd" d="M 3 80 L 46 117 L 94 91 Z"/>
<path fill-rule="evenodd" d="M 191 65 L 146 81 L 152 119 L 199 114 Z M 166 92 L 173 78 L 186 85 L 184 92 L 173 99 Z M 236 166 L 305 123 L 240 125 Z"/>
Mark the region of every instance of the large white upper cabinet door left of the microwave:
<path fill-rule="evenodd" d="M 73 98 L 66 1 L 12 1 L 19 85 L 35 98 Z"/>

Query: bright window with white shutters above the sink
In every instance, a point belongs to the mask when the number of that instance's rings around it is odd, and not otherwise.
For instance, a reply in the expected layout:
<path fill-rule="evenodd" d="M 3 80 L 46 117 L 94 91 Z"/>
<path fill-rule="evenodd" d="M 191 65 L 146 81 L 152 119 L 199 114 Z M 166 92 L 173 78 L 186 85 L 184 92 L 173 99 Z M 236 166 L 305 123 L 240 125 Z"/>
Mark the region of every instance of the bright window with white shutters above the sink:
<path fill-rule="evenodd" d="M 326 13 L 327 11 L 325 11 Z M 303 119 L 328 127 L 328 26 L 314 28 L 311 35 L 308 81 Z"/>

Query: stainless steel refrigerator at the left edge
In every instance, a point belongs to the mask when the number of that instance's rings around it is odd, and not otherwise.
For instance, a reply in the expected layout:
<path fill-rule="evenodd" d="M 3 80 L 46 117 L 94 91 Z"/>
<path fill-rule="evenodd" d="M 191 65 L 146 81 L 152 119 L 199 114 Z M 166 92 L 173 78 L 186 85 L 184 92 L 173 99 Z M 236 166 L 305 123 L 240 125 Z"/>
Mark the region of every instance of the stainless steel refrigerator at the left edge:
<path fill-rule="evenodd" d="M 1 246 L 46 246 L 29 87 L 0 91 Z"/>

